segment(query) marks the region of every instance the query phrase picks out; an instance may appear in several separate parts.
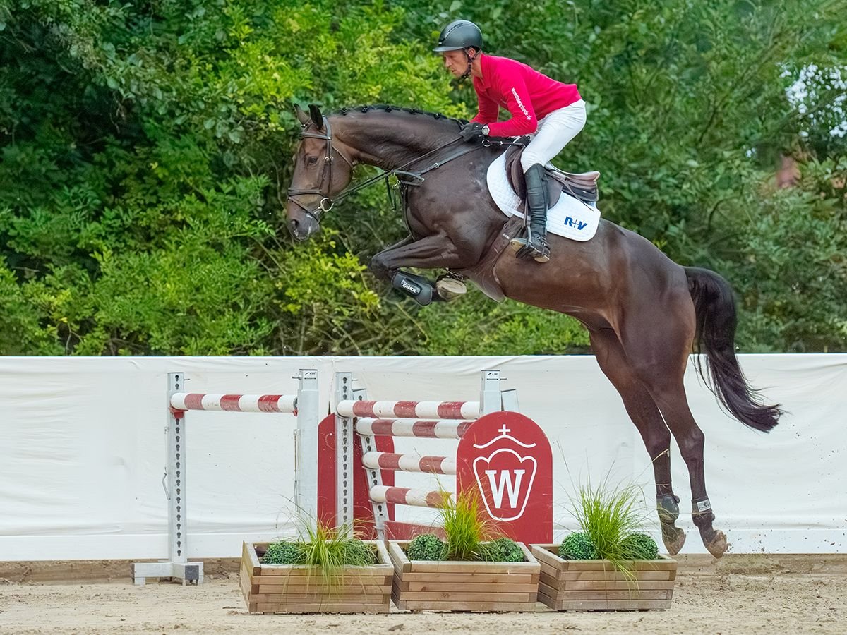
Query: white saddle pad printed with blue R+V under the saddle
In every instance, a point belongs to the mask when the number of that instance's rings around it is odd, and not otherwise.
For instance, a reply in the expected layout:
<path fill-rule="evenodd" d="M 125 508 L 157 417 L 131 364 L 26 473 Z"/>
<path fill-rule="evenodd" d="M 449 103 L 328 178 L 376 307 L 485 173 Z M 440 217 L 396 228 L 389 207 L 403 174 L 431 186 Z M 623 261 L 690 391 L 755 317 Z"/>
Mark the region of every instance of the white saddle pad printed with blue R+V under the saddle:
<path fill-rule="evenodd" d="M 518 211 L 521 200 L 506 176 L 506 152 L 497 157 L 488 168 L 486 176 L 491 198 L 507 216 L 523 218 Z M 600 210 L 586 205 L 573 196 L 562 192 L 556 205 L 547 213 L 547 232 L 570 238 L 571 240 L 590 240 L 597 233 L 600 224 Z"/>

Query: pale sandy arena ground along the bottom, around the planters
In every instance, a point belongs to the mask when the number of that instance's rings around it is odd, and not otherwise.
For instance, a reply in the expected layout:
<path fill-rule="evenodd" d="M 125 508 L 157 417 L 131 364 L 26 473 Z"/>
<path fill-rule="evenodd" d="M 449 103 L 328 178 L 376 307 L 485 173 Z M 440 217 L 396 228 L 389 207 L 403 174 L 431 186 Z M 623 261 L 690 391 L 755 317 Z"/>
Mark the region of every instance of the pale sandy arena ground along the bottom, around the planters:
<path fill-rule="evenodd" d="M 133 586 L 128 563 L 0 563 L 0 633 L 847 632 L 847 555 L 680 556 L 673 608 L 642 612 L 252 616 L 236 560 L 200 586 Z M 64 572 L 64 578 L 60 577 Z M 100 572 L 109 583 L 92 583 Z M 86 577 L 87 574 L 87 577 Z M 52 582 L 47 580 L 52 578 Z"/>

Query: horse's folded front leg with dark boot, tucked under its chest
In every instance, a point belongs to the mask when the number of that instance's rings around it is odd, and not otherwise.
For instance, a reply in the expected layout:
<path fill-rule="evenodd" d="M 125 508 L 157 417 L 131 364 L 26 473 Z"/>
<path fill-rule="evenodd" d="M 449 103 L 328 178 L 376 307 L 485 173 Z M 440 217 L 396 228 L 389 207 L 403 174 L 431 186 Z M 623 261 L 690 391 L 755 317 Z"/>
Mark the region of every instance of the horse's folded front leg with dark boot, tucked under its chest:
<path fill-rule="evenodd" d="M 444 234 L 426 236 L 413 240 L 409 236 L 385 251 L 380 251 L 371 258 L 370 269 L 374 274 L 389 280 L 391 286 L 412 298 L 421 306 L 426 306 L 433 300 L 450 300 L 464 293 L 464 285 L 456 280 L 439 280 L 433 283 L 424 276 L 419 276 L 401 267 L 417 267 L 423 269 L 466 268 L 474 262 L 473 254 L 460 255 L 452 240 Z M 475 256 L 479 260 L 479 255 Z"/>

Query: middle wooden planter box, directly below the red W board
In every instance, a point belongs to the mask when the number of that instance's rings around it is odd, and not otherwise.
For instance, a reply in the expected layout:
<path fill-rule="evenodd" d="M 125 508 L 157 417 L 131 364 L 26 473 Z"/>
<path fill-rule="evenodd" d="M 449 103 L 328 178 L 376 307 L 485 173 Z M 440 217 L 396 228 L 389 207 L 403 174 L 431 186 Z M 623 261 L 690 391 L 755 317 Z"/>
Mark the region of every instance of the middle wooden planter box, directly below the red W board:
<path fill-rule="evenodd" d="M 408 541 L 391 540 L 391 599 L 407 610 L 535 610 L 540 565 L 527 549 L 523 562 L 409 560 Z"/>

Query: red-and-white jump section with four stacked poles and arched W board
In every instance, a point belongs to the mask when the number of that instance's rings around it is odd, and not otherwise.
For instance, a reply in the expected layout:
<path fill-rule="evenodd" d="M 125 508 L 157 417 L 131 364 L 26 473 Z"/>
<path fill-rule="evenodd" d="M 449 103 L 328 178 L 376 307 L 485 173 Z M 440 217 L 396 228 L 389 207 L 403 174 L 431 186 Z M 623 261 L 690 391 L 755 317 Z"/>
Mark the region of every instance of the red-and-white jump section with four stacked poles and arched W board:
<path fill-rule="evenodd" d="M 438 491 L 394 487 L 396 472 L 455 475 L 457 491 L 476 489 L 492 520 L 524 542 L 552 540 L 552 456 L 539 426 L 518 413 L 500 372 L 482 373 L 479 401 L 366 400 L 351 373 L 335 375 L 335 416 L 320 424 L 318 517 L 375 538 L 432 531 L 393 520 L 394 505 L 439 507 Z M 453 456 L 403 455 L 393 438 L 459 439 Z M 367 510 L 367 511 L 366 511 Z"/>

